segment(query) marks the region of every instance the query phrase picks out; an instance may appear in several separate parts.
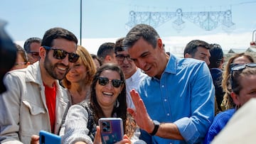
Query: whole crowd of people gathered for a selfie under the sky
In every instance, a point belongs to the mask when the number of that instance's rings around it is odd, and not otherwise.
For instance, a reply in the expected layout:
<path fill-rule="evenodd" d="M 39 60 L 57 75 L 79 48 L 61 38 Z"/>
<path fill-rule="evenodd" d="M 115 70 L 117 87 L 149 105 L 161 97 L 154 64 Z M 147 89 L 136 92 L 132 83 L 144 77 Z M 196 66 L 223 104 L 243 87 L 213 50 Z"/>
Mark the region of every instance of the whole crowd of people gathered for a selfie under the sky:
<path fill-rule="evenodd" d="M 23 48 L 8 43 L 16 55 L 1 73 L 0 143 L 38 144 L 42 130 L 61 143 L 102 143 L 100 118 L 122 118 L 118 143 L 232 142 L 222 135 L 256 97 L 251 55 L 224 65 L 220 45 L 191 40 L 176 57 L 146 24 L 103 43 L 97 55 L 65 28 L 28 38 Z"/>

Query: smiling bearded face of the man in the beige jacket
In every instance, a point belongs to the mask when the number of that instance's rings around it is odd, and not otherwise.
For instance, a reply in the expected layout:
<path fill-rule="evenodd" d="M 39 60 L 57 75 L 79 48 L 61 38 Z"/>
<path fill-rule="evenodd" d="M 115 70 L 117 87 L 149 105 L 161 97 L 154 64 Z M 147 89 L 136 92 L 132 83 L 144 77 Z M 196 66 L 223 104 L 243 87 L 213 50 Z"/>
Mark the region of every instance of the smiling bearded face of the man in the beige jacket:
<path fill-rule="evenodd" d="M 75 53 L 77 46 L 73 41 L 57 38 L 53 40 L 53 46 L 51 48 Z M 63 79 L 65 74 L 70 70 L 70 67 L 73 67 L 73 62 L 68 61 L 68 55 L 63 60 L 58 60 L 53 57 L 53 50 L 48 50 L 46 54 L 46 50 L 43 47 L 40 48 L 40 55 L 45 69 L 42 74 L 50 76 L 51 79 Z"/>

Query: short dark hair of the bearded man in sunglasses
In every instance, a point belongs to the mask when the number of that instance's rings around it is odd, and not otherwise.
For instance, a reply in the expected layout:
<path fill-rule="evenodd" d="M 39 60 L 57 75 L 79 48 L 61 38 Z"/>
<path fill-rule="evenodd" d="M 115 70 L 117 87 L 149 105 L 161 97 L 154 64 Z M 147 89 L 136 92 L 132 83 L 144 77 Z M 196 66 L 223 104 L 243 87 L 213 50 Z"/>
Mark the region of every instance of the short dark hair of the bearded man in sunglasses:
<path fill-rule="evenodd" d="M 66 40 L 70 40 L 78 44 L 78 38 L 75 35 L 64 29 L 64 28 L 50 28 L 46 33 L 43 35 L 43 40 L 41 45 L 46 45 L 48 47 L 53 46 L 53 40 L 56 38 L 64 38 Z"/>

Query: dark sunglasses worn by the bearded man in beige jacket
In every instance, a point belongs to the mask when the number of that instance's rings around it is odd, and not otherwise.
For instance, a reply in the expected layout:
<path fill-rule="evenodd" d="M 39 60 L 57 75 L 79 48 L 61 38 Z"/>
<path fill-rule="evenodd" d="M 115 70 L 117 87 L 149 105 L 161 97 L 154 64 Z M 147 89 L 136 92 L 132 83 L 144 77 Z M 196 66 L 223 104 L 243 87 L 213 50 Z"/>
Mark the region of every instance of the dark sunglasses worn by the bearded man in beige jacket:
<path fill-rule="evenodd" d="M 68 61 L 77 62 L 78 58 L 80 57 L 76 53 L 66 52 L 65 50 L 60 50 L 57 48 L 50 48 L 48 46 L 43 46 L 43 48 L 45 48 L 46 50 L 53 50 L 53 57 L 58 60 L 63 60 L 68 55 Z"/>

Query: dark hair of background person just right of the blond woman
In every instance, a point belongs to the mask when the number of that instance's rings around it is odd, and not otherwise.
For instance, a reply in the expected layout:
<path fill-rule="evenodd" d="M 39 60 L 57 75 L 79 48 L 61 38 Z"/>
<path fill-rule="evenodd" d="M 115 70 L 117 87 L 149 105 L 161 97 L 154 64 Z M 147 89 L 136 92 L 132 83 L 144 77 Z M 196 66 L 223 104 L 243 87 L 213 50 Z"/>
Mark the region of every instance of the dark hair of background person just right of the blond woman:
<path fill-rule="evenodd" d="M 103 43 L 100 45 L 97 51 L 97 56 L 100 60 L 104 60 L 107 55 L 112 55 L 114 53 L 114 43 Z"/>

